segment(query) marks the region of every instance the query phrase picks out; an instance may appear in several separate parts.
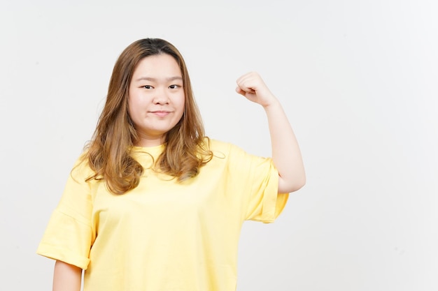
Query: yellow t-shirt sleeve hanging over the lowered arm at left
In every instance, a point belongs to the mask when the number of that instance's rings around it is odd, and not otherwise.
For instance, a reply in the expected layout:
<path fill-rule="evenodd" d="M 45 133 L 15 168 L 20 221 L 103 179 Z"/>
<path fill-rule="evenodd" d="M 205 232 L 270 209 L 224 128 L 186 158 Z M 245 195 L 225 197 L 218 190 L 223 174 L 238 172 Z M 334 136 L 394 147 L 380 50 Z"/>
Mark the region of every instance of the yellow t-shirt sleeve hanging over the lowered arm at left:
<path fill-rule="evenodd" d="M 87 269 L 93 240 L 92 200 L 85 182 L 90 173 L 85 163 L 76 162 L 38 246 L 38 255 Z"/>

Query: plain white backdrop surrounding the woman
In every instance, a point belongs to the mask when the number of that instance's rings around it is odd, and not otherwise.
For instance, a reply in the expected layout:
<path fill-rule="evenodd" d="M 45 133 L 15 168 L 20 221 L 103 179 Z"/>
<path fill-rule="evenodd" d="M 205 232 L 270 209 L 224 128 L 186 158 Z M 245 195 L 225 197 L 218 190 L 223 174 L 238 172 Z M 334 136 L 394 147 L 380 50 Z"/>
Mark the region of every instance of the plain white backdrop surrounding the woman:
<path fill-rule="evenodd" d="M 281 100 L 307 184 L 245 223 L 239 291 L 438 290 L 438 2 L 0 1 L 0 289 L 51 290 L 35 254 L 90 140 L 115 60 L 165 38 L 210 137 L 270 155 L 255 70 Z"/>

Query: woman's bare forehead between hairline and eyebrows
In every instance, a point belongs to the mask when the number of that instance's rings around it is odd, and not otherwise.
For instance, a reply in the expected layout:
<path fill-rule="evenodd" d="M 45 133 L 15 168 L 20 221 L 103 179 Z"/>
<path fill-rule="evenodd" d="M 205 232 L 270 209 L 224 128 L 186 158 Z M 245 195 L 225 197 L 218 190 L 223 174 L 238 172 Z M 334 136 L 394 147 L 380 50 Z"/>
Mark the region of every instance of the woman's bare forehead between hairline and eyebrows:
<path fill-rule="evenodd" d="M 133 79 L 139 77 L 181 77 L 181 69 L 171 55 L 155 54 L 141 59 L 136 66 Z"/>

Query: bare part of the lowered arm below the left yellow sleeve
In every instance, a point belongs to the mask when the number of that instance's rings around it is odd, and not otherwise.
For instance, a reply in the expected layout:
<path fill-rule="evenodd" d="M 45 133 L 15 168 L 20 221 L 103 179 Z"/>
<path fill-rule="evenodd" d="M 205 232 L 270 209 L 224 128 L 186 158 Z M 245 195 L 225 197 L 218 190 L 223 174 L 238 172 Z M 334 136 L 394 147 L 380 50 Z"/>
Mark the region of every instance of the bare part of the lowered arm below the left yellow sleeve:
<path fill-rule="evenodd" d="M 80 291 L 82 269 L 56 261 L 53 274 L 53 291 Z"/>

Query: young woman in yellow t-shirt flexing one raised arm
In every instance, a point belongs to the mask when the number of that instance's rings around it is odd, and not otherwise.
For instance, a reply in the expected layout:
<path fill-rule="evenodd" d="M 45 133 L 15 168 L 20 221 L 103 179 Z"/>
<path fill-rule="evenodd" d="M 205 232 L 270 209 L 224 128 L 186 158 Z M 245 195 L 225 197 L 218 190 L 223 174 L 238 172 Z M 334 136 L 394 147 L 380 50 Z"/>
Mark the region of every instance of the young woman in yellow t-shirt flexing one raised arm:
<path fill-rule="evenodd" d="M 257 73 L 237 93 L 262 105 L 272 158 L 210 140 L 176 47 L 142 39 L 116 62 L 91 142 L 37 253 L 53 290 L 232 291 L 243 221 L 273 222 L 304 186 L 297 140 Z"/>

